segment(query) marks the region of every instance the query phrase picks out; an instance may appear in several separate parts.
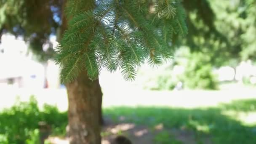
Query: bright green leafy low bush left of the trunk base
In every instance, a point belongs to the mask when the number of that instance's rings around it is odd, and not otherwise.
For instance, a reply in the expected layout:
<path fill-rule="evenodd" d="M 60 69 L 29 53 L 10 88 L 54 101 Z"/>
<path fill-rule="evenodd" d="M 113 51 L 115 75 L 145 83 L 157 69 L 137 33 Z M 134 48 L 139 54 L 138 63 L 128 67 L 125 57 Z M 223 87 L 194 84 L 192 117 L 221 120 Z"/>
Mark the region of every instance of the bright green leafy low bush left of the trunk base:
<path fill-rule="evenodd" d="M 13 107 L 0 112 L 0 144 L 37 144 L 40 121 L 52 128 L 65 128 L 67 113 L 61 113 L 56 107 L 49 105 L 45 105 L 43 111 L 40 111 L 33 96 L 28 102 L 16 101 Z M 62 133 L 63 131 L 65 129 L 61 130 Z"/>

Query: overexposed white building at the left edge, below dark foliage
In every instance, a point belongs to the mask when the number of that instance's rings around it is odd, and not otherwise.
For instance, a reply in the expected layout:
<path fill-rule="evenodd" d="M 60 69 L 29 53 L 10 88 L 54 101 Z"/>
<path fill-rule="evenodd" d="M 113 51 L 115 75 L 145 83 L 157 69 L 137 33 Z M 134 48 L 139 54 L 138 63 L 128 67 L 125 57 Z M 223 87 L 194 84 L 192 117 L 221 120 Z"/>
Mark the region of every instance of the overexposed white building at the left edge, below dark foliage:
<path fill-rule="evenodd" d="M 0 83 L 14 87 L 43 88 L 42 64 L 22 56 L 0 55 Z"/>

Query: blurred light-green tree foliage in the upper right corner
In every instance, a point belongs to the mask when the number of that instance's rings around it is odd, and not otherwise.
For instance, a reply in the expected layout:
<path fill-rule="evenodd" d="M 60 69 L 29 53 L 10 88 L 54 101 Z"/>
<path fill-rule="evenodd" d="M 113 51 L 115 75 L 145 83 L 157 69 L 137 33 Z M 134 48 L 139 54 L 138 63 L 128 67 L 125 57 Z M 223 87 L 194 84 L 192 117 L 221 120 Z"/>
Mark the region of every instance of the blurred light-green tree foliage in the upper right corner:
<path fill-rule="evenodd" d="M 199 23 L 196 16 L 188 15 L 192 19 L 195 27 L 201 28 L 199 34 L 194 36 L 197 40 L 195 47 L 197 51 L 211 56 L 211 63 L 217 67 L 221 65 L 234 65 L 238 61 L 254 59 L 256 51 L 255 42 L 255 19 L 253 11 L 256 9 L 255 0 L 224 0 L 208 1 L 209 8 L 214 16 L 214 27 L 217 32 L 217 38 L 213 38 L 216 32 L 211 32 L 211 27 L 207 23 Z M 211 35 L 203 29 L 208 29 Z M 214 30 L 215 31 L 215 30 Z M 192 28 L 189 28 L 192 32 Z M 191 48 L 191 44 L 188 44 Z M 193 50 L 193 48 L 191 48 Z"/>

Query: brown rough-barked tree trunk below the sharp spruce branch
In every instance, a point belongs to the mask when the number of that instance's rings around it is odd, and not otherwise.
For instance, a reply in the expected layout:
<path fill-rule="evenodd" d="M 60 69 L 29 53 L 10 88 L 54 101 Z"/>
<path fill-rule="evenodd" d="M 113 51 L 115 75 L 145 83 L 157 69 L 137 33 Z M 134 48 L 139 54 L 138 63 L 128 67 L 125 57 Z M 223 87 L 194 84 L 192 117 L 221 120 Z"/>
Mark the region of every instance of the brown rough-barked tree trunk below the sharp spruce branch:
<path fill-rule="evenodd" d="M 101 144 L 99 91 L 99 80 L 91 81 L 86 72 L 67 84 L 70 144 Z"/>

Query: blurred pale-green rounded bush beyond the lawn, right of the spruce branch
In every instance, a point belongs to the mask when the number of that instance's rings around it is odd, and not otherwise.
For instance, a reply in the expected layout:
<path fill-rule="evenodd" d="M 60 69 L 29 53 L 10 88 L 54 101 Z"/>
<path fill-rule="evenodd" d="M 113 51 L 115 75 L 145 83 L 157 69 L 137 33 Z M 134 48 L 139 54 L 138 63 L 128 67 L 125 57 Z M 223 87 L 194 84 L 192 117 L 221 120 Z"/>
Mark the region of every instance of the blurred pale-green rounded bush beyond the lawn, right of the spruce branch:
<path fill-rule="evenodd" d="M 218 81 L 213 75 L 213 67 L 210 57 L 197 52 L 181 51 L 181 56 L 175 59 L 176 66 L 183 66 L 183 72 L 174 72 L 174 66 L 170 65 L 162 73 L 151 76 L 144 88 L 151 90 L 173 90 L 178 82 L 182 82 L 189 89 L 211 89 L 218 88 Z M 181 57 L 181 58 L 179 58 Z M 160 70 L 159 70 L 160 71 Z"/>

